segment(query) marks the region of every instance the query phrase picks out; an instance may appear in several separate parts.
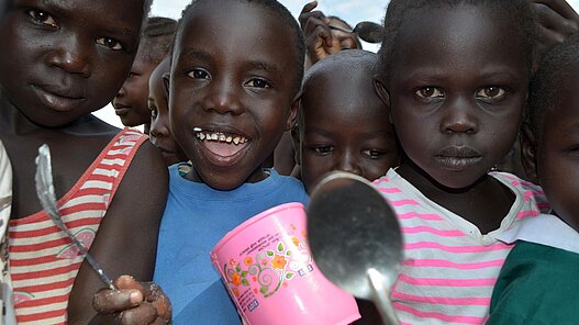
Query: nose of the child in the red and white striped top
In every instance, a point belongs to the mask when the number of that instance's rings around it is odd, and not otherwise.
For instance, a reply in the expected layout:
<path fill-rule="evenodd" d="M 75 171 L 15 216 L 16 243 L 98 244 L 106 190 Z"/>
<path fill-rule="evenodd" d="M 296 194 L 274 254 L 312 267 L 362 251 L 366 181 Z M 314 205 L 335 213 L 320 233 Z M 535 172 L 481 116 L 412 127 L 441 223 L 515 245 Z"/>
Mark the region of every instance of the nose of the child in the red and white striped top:
<path fill-rule="evenodd" d="M 79 41 L 65 42 L 55 46 L 46 59 L 48 65 L 59 67 L 69 74 L 90 76 L 88 57 Z"/>

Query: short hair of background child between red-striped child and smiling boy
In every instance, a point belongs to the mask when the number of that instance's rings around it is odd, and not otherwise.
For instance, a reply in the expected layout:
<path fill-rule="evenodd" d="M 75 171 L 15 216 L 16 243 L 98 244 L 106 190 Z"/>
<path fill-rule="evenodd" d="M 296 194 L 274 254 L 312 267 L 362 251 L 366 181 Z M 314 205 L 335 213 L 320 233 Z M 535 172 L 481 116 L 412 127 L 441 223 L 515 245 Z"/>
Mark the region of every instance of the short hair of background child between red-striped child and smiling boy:
<path fill-rule="evenodd" d="M 145 22 L 142 46 L 146 46 L 146 58 L 153 63 L 160 63 L 172 48 L 177 21 L 165 16 L 152 16 Z"/>

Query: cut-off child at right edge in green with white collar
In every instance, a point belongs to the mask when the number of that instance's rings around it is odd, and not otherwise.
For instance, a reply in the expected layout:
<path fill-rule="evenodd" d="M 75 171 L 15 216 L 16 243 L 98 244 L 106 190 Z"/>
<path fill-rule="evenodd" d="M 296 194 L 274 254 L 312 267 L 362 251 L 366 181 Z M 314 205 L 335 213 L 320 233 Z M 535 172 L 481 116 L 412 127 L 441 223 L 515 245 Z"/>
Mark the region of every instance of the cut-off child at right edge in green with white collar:
<path fill-rule="evenodd" d="M 577 324 L 579 310 L 579 34 L 549 53 L 531 85 L 523 154 L 552 214 L 500 239 L 516 246 L 499 276 L 487 324 Z"/>

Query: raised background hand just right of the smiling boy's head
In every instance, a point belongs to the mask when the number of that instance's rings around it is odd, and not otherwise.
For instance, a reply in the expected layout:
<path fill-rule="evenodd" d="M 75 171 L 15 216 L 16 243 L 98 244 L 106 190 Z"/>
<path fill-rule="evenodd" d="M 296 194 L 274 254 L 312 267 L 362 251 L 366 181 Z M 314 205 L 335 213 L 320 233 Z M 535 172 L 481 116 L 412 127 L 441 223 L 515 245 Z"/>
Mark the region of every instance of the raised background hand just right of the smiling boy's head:
<path fill-rule="evenodd" d="M 318 1 L 305 4 L 299 16 L 308 58 L 312 65 L 341 51 L 339 44 L 332 37 L 327 18 L 319 10 L 312 11 L 315 7 Z"/>

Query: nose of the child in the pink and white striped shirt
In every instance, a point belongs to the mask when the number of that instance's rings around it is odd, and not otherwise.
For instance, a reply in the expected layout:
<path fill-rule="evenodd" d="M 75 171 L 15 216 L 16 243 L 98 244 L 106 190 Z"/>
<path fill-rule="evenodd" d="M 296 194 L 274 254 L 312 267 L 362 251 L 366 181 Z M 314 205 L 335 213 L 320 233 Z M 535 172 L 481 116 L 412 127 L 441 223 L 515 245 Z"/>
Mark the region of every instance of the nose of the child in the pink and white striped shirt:
<path fill-rule="evenodd" d="M 476 133 L 478 123 L 475 112 L 480 110 L 476 103 L 465 98 L 452 99 L 443 110 L 442 133 Z"/>

